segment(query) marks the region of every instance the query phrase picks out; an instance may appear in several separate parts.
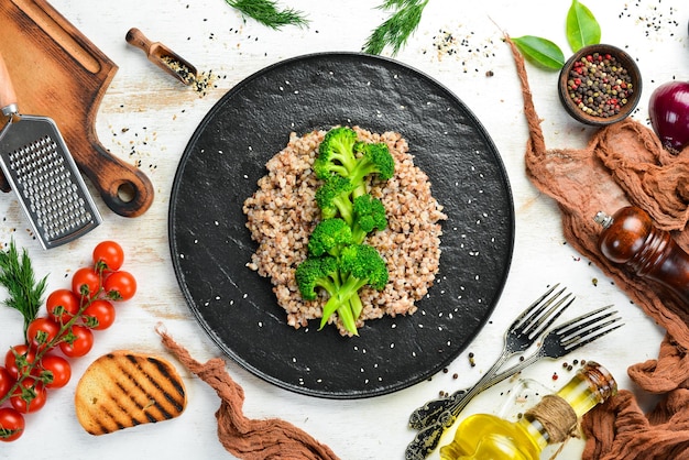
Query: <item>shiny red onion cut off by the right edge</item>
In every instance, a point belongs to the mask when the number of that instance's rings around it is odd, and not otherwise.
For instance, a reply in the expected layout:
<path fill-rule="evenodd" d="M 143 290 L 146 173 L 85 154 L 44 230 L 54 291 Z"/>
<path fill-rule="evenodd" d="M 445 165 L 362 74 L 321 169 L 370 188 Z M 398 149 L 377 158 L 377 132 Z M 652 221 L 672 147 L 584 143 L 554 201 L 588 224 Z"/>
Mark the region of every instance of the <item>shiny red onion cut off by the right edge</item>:
<path fill-rule="evenodd" d="M 668 81 L 650 95 L 648 113 L 663 145 L 678 152 L 689 144 L 689 81 Z"/>

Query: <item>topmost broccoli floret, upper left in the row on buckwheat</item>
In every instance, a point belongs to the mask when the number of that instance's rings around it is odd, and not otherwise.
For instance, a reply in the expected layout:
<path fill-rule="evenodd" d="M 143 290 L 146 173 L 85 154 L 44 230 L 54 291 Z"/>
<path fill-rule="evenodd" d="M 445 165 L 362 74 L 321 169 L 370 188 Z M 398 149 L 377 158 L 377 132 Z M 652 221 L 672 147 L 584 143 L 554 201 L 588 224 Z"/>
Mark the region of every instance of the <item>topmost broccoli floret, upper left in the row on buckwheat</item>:
<path fill-rule="evenodd" d="M 328 131 L 318 146 L 318 157 L 314 162 L 314 173 L 320 179 L 332 174 L 347 177 L 357 165 L 354 143 L 357 132 L 351 128 L 338 127 Z"/>

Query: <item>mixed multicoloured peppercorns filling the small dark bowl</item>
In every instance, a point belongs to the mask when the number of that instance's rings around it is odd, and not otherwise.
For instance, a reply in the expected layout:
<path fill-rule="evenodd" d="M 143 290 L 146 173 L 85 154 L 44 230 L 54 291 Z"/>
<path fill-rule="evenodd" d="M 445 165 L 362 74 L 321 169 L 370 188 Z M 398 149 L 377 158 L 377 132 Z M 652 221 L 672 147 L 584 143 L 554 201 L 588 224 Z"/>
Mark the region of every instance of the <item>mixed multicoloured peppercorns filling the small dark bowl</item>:
<path fill-rule="evenodd" d="M 634 92 L 632 78 L 610 54 L 593 53 L 577 61 L 567 80 L 571 100 L 592 117 L 609 118 L 620 113 Z"/>

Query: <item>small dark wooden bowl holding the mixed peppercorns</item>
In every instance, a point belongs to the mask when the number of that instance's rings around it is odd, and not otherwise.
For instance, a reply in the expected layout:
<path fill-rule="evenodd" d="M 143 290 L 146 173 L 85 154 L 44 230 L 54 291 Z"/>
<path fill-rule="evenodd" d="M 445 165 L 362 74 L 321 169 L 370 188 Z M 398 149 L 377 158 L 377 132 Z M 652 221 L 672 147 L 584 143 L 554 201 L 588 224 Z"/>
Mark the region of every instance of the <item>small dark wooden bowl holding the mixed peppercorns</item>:
<path fill-rule="evenodd" d="M 631 77 L 633 92 L 627 98 L 626 103 L 620 107 L 620 111 L 615 114 L 611 114 L 610 117 L 586 112 L 572 100 L 568 89 L 570 72 L 575 64 L 581 58 L 597 53 L 599 55 L 609 54 L 614 56 L 617 64 L 625 68 Z M 558 79 L 558 92 L 565 110 L 567 110 L 567 113 L 569 113 L 575 120 L 593 127 L 604 127 L 616 123 L 620 120 L 624 120 L 636 108 L 642 95 L 642 76 L 634 59 L 624 51 L 611 45 L 590 45 L 579 50 L 569 58 L 569 61 L 567 61 L 567 63 L 565 63 L 565 66 L 562 66 L 562 69 L 560 70 L 560 78 Z"/>

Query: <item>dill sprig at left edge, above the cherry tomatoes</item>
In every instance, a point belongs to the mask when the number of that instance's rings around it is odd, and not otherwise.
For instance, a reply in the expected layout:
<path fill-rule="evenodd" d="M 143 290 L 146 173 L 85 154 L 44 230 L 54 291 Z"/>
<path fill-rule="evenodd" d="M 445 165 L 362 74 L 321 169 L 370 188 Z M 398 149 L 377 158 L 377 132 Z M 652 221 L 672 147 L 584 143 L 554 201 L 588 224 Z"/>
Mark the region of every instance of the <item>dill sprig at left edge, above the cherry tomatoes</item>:
<path fill-rule="evenodd" d="M 0 251 L 0 284 L 8 291 L 9 297 L 3 305 L 19 310 L 24 317 L 24 335 L 29 324 L 35 319 L 43 304 L 47 276 L 35 282 L 31 259 L 26 250 L 20 255 L 14 241 L 7 251 Z"/>

